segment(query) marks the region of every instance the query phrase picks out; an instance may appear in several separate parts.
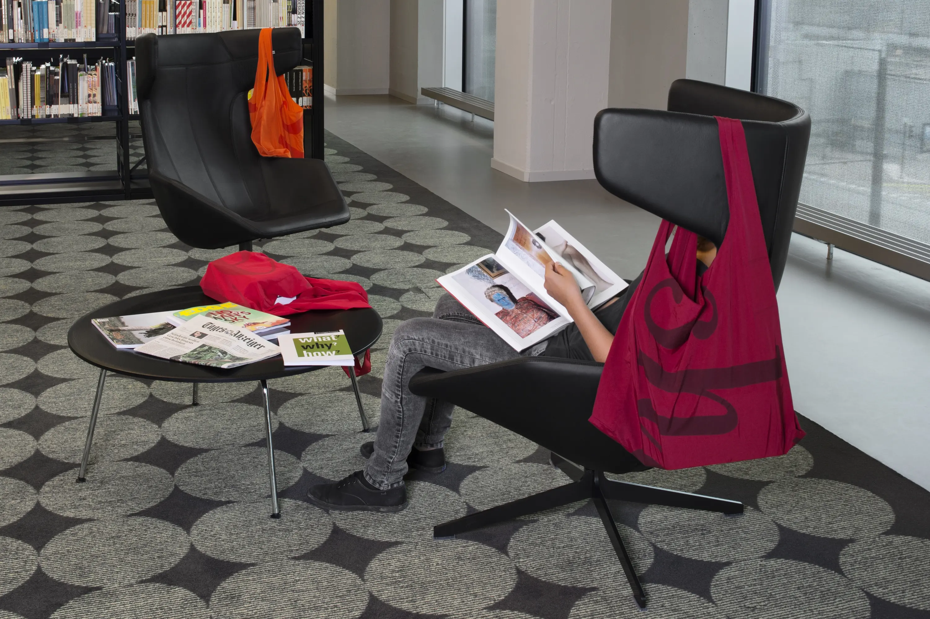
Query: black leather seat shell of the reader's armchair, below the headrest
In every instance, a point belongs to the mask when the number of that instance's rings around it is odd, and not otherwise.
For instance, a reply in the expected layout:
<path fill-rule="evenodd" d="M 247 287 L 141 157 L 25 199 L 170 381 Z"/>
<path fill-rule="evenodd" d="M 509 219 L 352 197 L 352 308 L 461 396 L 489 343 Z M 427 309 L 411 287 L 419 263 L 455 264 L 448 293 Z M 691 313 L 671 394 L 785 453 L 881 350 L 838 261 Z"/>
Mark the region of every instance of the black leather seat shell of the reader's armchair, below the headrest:
<path fill-rule="evenodd" d="M 428 368 L 410 379 L 410 390 L 452 402 L 582 467 L 616 473 L 642 469 L 588 422 L 603 369 L 603 363 L 520 357 L 455 372 Z"/>

